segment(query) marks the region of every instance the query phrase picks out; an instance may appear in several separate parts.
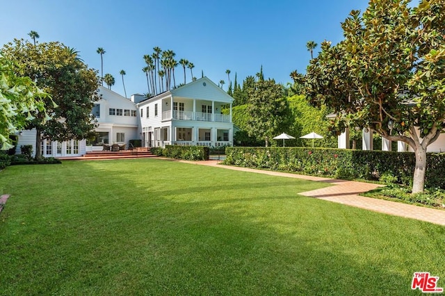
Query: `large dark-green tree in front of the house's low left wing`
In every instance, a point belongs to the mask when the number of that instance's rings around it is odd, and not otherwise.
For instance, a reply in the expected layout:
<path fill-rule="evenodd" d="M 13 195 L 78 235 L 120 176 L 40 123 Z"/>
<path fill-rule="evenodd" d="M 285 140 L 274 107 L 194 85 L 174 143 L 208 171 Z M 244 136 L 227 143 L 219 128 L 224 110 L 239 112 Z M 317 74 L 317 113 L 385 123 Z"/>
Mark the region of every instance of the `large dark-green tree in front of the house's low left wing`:
<path fill-rule="evenodd" d="M 97 99 L 97 72 L 70 54 L 60 42 L 33 45 L 24 40 L 5 44 L 3 56 L 12 60 L 17 76 L 29 76 L 51 95 L 42 99 L 46 113 L 36 113 L 26 129 L 35 128 L 35 156 L 41 156 L 41 140 L 81 140 L 95 128 L 90 116 Z"/>

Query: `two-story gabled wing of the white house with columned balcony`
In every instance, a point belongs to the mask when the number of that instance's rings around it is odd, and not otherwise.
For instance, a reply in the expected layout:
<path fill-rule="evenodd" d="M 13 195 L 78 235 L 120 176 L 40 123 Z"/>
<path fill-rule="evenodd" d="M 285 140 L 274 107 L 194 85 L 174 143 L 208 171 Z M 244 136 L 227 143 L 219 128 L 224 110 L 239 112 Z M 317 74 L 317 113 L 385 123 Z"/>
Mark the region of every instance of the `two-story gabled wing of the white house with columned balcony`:
<path fill-rule="evenodd" d="M 207 77 L 138 101 L 143 145 L 233 145 L 233 101 Z M 221 113 L 225 106 L 228 115 Z"/>

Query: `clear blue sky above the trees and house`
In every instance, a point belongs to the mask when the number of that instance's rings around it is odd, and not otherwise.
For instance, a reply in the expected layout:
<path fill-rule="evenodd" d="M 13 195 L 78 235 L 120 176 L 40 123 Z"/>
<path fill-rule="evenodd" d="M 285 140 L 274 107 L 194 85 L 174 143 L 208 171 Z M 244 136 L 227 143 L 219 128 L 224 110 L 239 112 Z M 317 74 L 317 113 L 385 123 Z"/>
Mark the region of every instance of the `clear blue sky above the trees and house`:
<path fill-rule="evenodd" d="M 156 46 L 175 51 L 177 60 L 191 61 L 193 76 L 200 78 L 203 71 L 216 84 L 224 80 L 225 89 L 226 69 L 232 81 L 236 72 L 241 83 L 261 65 L 266 79 L 286 84 L 293 70 L 305 72 L 310 59 L 307 41 L 339 42 L 340 23 L 350 10 L 364 10 L 367 4 L 368 0 L 15 0 L 1 5 L 0 44 L 14 38 L 31 40 L 27 34 L 37 31 L 39 42 L 74 47 L 88 67 L 98 70 L 96 50 L 102 47 L 104 74 L 116 80 L 112 90 L 124 94 L 119 74 L 124 69 L 127 96 L 147 92 L 143 55 L 152 54 Z M 175 76 L 177 83 L 184 81 L 182 67 Z"/>

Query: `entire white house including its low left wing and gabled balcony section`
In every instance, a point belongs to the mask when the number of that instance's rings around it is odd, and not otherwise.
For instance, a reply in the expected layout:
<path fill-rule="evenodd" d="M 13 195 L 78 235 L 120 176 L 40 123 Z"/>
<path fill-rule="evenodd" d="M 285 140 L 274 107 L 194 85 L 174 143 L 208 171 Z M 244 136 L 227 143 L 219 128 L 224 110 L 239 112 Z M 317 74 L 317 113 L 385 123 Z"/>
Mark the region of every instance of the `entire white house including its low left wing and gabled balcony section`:
<path fill-rule="evenodd" d="M 103 86 L 98 94 L 92 108 L 98 124 L 95 139 L 43 140 L 42 156 L 81 156 L 102 150 L 104 144 L 129 147 L 129 140 L 143 140 L 144 147 L 233 145 L 234 99 L 207 77 L 149 99 L 140 94 L 126 99 Z M 229 106 L 229 115 L 221 114 L 223 106 Z M 35 152 L 35 130 L 19 133 L 17 154 L 22 145 L 33 145 Z"/>

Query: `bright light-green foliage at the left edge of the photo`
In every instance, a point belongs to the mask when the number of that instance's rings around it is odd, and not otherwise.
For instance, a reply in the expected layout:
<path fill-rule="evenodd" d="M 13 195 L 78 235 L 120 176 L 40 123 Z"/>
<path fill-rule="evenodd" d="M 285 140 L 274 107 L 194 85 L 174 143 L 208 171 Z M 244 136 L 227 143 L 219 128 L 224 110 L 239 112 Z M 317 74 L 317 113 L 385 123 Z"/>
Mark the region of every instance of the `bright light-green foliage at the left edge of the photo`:
<path fill-rule="evenodd" d="M 1 150 L 13 147 L 10 134 L 24 129 L 36 112 L 45 114 L 42 92 L 29 77 L 15 74 L 13 63 L 0 55 L 0 145 Z"/>

